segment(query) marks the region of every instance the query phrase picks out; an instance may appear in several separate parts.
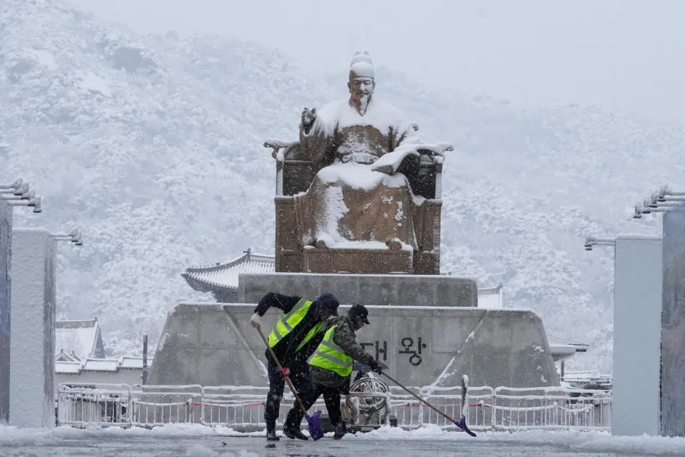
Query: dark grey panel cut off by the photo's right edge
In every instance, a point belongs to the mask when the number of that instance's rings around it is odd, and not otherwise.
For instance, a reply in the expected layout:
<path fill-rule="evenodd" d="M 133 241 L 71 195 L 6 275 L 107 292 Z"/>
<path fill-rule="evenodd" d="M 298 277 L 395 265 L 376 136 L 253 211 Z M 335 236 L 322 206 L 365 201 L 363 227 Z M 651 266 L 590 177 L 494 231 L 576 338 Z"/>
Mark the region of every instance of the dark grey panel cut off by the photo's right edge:
<path fill-rule="evenodd" d="M 685 206 L 664 213 L 661 435 L 685 436 Z"/>

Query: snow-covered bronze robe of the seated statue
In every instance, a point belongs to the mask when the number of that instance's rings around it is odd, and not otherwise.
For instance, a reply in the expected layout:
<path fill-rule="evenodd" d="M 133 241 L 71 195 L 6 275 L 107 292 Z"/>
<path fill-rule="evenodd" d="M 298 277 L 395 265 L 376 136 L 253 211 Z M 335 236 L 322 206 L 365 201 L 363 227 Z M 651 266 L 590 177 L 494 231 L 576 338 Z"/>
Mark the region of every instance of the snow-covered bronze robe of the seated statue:
<path fill-rule="evenodd" d="M 349 101 L 335 101 L 318 111 L 310 131 L 300 126 L 300 144 L 307 159 L 328 165 L 294 197 L 304 246 L 323 240 L 329 247 L 387 248 L 397 240 L 417 248 L 412 214 L 422 198 L 396 167 L 373 169 L 393 151 L 386 159 L 417 154 L 418 139 L 397 109 L 372 99 L 361 116 Z"/>

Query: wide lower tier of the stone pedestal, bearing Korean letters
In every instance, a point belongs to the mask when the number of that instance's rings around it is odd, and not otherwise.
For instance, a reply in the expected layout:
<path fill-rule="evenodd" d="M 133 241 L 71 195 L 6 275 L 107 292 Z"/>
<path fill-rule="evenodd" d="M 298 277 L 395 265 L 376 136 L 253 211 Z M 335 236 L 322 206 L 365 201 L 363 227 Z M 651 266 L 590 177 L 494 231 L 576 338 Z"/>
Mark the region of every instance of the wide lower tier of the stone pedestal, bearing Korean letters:
<path fill-rule="evenodd" d="M 265 345 L 250 326 L 255 303 L 181 303 L 168 314 L 151 384 L 268 386 Z M 340 313 L 349 306 L 341 305 Z M 533 311 L 369 306 L 357 342 L 408 386 L 559 386 L 542 321 Z M 283 313 L 268 311 L 268 333 Z M 283 408 L 290 408 L 285 404 Z"/>

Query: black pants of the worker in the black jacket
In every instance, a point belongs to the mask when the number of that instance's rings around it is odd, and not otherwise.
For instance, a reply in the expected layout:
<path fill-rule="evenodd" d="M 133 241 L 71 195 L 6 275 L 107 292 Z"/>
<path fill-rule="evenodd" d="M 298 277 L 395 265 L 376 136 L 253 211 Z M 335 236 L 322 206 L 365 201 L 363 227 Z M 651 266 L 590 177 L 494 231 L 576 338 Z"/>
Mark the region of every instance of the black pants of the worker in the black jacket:
<path fill-rule="evenodd" d="M 311 396 L 312 391 L 314 390 L 314 383 L 307 360 L 301 360 L 296 357 L 288 368 L 290 368 L 290 381 L 293 382 L 293 386 L 295 386 L 295 389 L 300 396 Z M 266 397 L 264 419 L 266 421 L 267 430 L 274 430 L 276 419 L 278 419 L 280 401 L 283 398 L 285 380 L 283 379 L 283 376 L 280 376 L 280 373 L 278 373 L 278 366 L 276 366 L 276 363 L 271 358 L 268 358 L 267 371 L 269 375 L 269 393 Z M 297 401 L 295 401 L 294 405 L 298 406 Z M 302 418 L 300 418 L 300 420 L 302 420 Z"/>

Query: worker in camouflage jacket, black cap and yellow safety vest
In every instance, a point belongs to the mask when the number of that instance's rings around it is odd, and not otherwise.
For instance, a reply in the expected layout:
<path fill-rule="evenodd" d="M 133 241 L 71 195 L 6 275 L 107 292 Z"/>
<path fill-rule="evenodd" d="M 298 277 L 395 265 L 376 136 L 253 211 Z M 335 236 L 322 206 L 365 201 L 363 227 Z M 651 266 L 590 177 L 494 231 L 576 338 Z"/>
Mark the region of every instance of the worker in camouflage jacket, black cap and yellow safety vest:
<path fill-rule="evenodd" d="M 345 422 L 340 413 L 340 394 L 350 393 L 352 363 L 370 366 L 372 371 L 381 373 L 387 368 L 377 362 L 370 353 L 357 344 L 355 331 L 369 323 L 369 311 L 363 305 L 353 305 L 345 316 L 333 319 L 326 330 L 323 340 L 309 358 L 315 388 L 300 395 L 305 408 L 309 409 L 319 396 L 323 395 L 328 409 L 330 423 L 335 427 L 333 438 L 340 439 L 346 433 Z M 300 408 L 291 408 L 285 419 L 285 428 L 300 429 L 303 412 Z"/>

